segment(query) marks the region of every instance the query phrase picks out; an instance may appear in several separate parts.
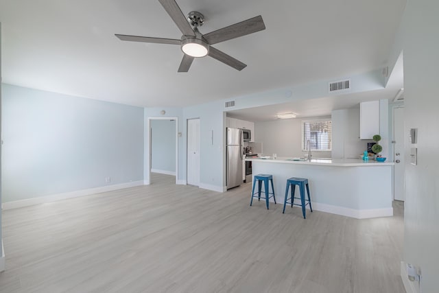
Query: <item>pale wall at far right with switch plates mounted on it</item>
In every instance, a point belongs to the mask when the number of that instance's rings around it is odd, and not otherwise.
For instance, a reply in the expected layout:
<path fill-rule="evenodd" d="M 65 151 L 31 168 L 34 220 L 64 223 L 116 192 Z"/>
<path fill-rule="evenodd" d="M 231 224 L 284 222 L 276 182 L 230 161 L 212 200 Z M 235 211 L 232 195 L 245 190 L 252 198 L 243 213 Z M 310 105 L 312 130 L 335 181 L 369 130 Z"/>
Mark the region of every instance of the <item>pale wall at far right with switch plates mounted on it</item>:
<path fill-rule="evenodd" d="M 406 144 L 418 148 L 418 165 L 410 164 L 405 150 L 403 260 L 420 266 L 424 293 L 439 288 L 438 15 L 439 1 L 408 0 L 401 25 L 406 138 L 410 128 L 418 128 L 418 143 Z"/>

